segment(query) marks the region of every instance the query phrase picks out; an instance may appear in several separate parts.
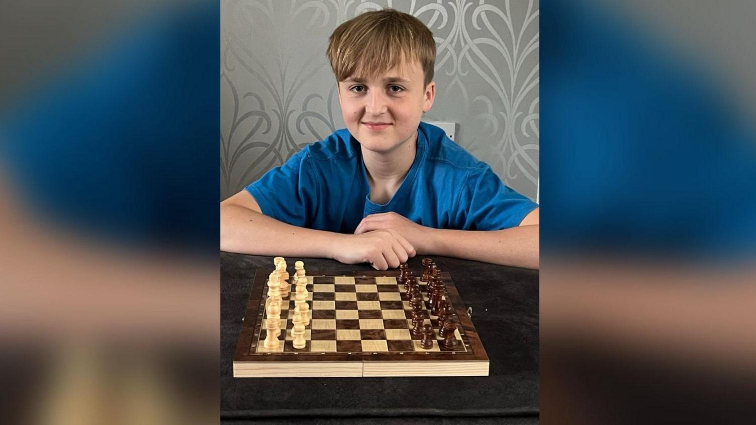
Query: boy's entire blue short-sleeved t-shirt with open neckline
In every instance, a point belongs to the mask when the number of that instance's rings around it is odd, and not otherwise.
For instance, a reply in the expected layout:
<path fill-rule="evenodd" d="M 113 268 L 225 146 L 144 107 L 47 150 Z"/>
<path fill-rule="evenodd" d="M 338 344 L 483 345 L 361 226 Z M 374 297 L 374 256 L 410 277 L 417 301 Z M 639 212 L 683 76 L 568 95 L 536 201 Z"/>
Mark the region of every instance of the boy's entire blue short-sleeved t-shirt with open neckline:
<path fill-rule="evenodd" d="M 538 206 L 427 123 L 418 128 L 410 171 L 386 204 L 370 201 L 360 144 L 347 129 L 306 146 L 246 190 L 266 216 L 342 233 L 389 211 L 431 228 L 499 230 L 519 225 Z"/>

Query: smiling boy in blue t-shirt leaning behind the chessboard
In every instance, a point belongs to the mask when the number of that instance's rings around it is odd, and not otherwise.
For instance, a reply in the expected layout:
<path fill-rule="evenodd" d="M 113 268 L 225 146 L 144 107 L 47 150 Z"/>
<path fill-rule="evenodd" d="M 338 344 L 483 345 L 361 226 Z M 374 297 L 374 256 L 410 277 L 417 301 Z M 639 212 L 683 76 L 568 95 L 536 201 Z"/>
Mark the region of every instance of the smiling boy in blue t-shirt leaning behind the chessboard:
<path fill-rule="evenodd" d="M 221 203 L 221 249 L 374 268 L 416 254 L 538 268 L 538 205 L 420 123 L 435 42 L 393 9 L 342 23 L 327 51 L 346 129 Z"/>

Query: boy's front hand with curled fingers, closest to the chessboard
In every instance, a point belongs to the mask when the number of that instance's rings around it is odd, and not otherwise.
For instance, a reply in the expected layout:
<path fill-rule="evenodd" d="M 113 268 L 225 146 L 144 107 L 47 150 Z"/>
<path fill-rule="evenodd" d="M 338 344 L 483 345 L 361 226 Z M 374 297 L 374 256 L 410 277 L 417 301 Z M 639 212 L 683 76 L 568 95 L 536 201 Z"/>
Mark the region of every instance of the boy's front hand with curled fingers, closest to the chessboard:
<path fill-rule="evenodd" d="M 416 254 L 407 239 L 390 229 L 342 236 L 333 247 L 333 259 L 345 264 L 369 262 L 377 270 L 386 270 Z"/>

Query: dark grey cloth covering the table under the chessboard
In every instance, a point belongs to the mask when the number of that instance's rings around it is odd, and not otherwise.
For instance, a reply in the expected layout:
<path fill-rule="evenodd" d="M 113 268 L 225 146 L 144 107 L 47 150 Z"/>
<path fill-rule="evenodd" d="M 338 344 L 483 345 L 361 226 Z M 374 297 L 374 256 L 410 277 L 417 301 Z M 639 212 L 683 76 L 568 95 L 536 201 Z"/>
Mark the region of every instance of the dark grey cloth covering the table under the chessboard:
<path fill-rule="evenodd" d="M 536 422 L 538 271 L 431 258 L 451 273 L 466 306 L 472 307 L 472 323 L 490 359 L 488 377 L 234 378 L 234 349 L 250 285 L 256 270 L 273 270 L 273 259 L 221 253 L 222 420 L 435 416 Z M 294 260 L 287 259 L 291 269 Z M 372 270 L 327 259 L 302 260 L 311 270 Z M 416 273 L 422 270 L 420 262 L 420 257 L 409 262 Z"/>

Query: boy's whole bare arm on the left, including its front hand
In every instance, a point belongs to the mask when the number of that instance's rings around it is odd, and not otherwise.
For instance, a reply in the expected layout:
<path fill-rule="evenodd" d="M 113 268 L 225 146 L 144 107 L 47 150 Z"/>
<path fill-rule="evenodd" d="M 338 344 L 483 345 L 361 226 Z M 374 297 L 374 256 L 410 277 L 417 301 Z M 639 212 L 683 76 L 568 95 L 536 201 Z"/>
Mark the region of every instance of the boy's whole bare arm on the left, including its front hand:
<path fill-rule="evenodd" d="M 415 255 L 406 238 L 390 229 L 366 234 L 339 234 L 300 228 L 262 214 L 243 190 L 221 203 L 221 250 L 263 256 L 330 258 L 347 264 L 370 262 L 396 268 Z"/>

